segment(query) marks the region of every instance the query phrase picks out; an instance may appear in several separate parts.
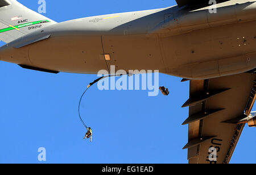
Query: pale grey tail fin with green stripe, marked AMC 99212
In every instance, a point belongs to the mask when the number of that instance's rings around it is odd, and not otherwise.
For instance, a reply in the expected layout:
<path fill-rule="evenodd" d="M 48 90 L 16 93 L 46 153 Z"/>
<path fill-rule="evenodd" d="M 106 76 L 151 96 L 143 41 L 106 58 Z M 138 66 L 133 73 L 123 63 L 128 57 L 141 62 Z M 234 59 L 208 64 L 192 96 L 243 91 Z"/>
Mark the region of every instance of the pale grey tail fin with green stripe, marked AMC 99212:
<path fill-rule="evenodd" d="M 16 0 L 0 0 L 0 41 L 10 43 L 23 35 L 55 23 Z"/>

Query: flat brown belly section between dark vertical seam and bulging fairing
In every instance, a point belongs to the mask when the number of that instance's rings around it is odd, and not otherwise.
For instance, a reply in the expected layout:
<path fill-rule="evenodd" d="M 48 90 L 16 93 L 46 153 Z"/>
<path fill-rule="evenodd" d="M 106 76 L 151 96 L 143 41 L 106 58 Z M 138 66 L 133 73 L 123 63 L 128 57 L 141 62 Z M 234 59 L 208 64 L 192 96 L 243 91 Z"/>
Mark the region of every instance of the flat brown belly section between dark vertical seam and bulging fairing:
<path fill-rule="evenodd" d="M 159 70 L 165 72 L 165 64 L 158 36 L 104 36 L 105 53 L 112 60 L 109 64 L 124 70 Z"/>

